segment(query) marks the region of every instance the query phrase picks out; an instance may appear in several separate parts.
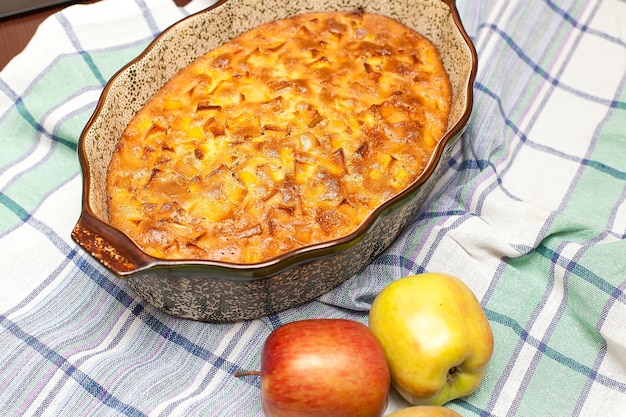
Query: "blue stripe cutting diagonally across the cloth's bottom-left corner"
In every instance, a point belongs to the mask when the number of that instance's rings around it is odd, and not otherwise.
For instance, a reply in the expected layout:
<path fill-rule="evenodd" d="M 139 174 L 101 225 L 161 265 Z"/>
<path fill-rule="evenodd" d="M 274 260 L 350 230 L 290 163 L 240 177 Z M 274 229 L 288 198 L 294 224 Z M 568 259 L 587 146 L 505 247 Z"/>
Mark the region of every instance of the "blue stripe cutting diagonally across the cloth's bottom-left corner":
<path fill-rule="evenodd" d="M 81 386 L 86 392 L 91 394 L 94 398 L 97 398 L 101 403 L 107 407 L 122 413 L 125 416 L 145 416 L 140 410 L 134 408 L 129 404 L 125 404 L 119 399 L 115 398 L 109 393 L 106 388 L 98 384 L 95 380 L 90 378 L 87 374 L 77 369 L 74 365 L 69 363 L 63 356 L 50 349 L 44 343 L 42 343 L 35 336 L 23 331 L 16 323 L 9 320 L 5 315 L 0 314 L 0 325 L 7 329 L 13 336 L 22 340 L 31 349 L 39 353 L 43 358 L 48 360 L 51 364 L 63 371 L 67 376 L 72 378 L 76 383 Z"/>

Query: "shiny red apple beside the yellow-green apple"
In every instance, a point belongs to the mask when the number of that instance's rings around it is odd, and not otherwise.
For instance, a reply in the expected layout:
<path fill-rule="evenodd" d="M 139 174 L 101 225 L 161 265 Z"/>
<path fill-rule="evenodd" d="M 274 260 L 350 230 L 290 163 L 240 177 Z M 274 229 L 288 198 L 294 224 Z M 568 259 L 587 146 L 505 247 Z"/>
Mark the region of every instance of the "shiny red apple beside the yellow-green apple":
<path fill-rule="evenodd" d="M 389 388 L 382 347 L 359 322 L 295 321 L 274 330 L 263 346 L 267 417 L 380 417 Z"/>

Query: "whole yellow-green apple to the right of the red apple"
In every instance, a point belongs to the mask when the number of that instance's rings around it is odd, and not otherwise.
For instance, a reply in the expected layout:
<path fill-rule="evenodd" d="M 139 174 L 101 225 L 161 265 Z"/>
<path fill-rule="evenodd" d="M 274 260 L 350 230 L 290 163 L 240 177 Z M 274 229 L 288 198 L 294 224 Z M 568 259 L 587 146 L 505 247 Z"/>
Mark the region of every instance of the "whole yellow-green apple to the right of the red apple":
<path fill-rule="evenodd" d="M 476 390 L 493 353 L 493 333 L 474 293 L 443 273 L 400 278 L 374 299 L 369 327 L 391 381 L 412 405 L 443 405 Z"/>

